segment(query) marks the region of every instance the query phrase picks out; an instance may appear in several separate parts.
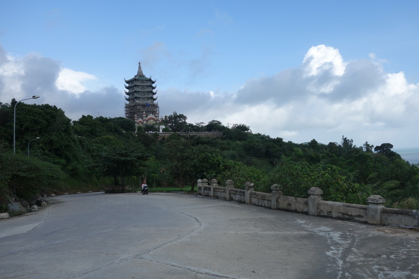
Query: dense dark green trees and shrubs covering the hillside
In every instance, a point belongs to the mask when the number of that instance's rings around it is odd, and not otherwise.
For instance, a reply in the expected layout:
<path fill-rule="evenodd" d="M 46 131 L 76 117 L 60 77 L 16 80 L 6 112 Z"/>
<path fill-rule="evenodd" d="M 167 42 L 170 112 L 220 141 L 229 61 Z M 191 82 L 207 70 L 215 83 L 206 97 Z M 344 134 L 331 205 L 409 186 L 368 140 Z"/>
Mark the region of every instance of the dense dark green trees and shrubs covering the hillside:
<path fill-rule="evenodd" d="M 262 192 L 278 183 L 285 195 L 298 197 L 317 186 L 326 200 L 356 204 L 379 194 L 386 206 L 419 208 L 419 167 L 402 160 L 390 143 L 357 147 L 342 136 L 340 143 L 296 144 L 252 134 L 245 124 L 188 123 L 176 112 L 162 118 L 164 131 L 222 136 L 159 137 L 153 127 L 135 133 L 134 122 L 122 117 L 71 122 L 55 106 L 19 103 L 13 154 L 15 102 L 0 103 L 0 205 L 12 195 L 33 200 L 41 192 L 138 188 L 143 180 L 149 187 L 189 185 L 193 191 L 197 179 L 216 178 L 221 186 L 231 179 L 237 188 L 252 181 Z"/>

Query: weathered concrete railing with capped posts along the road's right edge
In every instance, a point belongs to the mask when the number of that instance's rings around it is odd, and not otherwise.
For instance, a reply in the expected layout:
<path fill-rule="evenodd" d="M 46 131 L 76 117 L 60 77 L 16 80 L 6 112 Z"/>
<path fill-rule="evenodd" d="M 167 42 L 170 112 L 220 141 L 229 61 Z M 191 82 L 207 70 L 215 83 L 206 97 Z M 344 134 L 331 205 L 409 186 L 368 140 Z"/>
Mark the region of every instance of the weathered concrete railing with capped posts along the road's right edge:
<path fill-rule="evenodd" d="M 271 193 L 256 192 L 252 182 L 246 182 L 244 189 L 234 188 L 231 180 L 226 181 L 226 187 L 218 186 L 218 181 L 199 179 L 198 196 L 218 199 L 235 200 L 249 205 L 270 209 L 286 210 L 315 216 L 353 220 L 370 224 L 393 225 L 399 227 L 419 228 L 419 211 L 407 209 L 386 208 L 385 199 L 372 195 L 366 199 L 367 206 L 346 204 L 344 202 L 323 200 L 322 189 L 312 187 L 308 190 L 308 198 L 290 197 L 282 194 L 278 184 L 270 187 Z"/>

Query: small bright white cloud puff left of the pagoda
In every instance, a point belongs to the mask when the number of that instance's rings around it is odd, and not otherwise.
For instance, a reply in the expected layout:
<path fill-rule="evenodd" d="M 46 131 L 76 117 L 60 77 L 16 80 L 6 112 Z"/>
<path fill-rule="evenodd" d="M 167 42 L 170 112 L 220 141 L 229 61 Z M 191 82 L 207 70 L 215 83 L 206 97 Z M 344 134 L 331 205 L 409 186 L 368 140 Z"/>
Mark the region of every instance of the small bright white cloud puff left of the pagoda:
<path fill-rule="evenodd" d="M 93 74 L 87 72 L 73 71 L 71 69 L 61 69 L 58 74 L 55 85 L 60 90 L 67 90 L 68 92 L 80 94 L 86 91 L 83 82 L 97 79 Z"/>

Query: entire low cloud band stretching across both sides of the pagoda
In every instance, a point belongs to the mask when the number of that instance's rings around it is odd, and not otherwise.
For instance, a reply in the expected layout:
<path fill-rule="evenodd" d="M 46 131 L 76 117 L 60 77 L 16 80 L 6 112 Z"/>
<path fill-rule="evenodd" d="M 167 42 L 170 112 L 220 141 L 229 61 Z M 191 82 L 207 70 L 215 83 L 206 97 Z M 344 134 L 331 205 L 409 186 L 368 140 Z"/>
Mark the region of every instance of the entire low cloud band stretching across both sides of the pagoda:
<path fill-rule="evenodd" d="M 160 114 L 177 111 L 192 123 L 244 123 L 253 133 L 297 143 L 340 142 L 344 135 L 357 145 L 417 146 L 419 84 L 410 84 L 404 72 L 386 73 L 383 63 L 374 54 L 345 61 L 334 47 L 313 46 L 300 67 L 250 79 L 236 92 L 160 89 Z M 55 105 L 72 120 L 124 116 L 124 88 L 89 88 L 91 80 L 97 77 L 40 54 L 16 58 L 0 47 L 0 102 L 40 95 L 28 103 Z"/>

